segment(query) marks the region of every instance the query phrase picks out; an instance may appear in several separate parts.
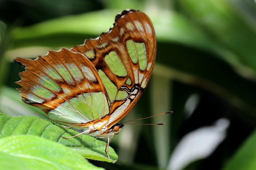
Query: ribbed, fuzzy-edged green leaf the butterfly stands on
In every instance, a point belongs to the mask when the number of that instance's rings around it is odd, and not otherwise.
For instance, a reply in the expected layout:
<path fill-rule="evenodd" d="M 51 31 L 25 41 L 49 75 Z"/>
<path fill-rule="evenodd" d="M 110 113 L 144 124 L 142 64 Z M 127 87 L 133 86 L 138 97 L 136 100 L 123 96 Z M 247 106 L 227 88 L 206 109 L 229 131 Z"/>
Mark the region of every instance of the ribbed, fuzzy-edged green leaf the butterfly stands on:
<path fill-rule="evenodd" d="M 0 138 L 12 135 L 39 136 L 64 144 L 84 158 L 111 162 L 105 153 L 105 142 L 87 135 L 64 139 L 62 136 L 72 137 L 78 132 L 36 116 L 11 117 L 0 113 L 0 132 Z M 118 157 L 113 148 L 109 147 L 108 153 L 112 161 L 117 160 Z"/>

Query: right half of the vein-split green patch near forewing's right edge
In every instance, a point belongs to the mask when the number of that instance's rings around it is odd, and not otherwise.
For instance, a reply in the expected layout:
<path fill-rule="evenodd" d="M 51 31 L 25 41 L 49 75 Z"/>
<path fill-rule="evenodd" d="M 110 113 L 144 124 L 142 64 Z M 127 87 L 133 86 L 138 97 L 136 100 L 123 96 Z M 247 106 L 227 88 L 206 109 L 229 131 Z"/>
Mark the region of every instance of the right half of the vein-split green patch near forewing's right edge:
<path fill-rule="evenodd" d="M 135 42 L 137 48 L 140 70 L 144 71 L 147 68 L 147 51 L 145 43 Z"/>

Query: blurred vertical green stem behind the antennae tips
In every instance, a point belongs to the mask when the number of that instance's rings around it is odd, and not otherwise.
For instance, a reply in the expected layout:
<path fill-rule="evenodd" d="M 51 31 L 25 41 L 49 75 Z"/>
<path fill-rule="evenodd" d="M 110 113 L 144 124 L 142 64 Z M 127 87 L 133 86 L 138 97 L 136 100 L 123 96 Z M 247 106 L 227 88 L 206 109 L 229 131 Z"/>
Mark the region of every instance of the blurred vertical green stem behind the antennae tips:
<path fill-rule="evenodd" d="M 161 84 L 159 84 L 161 82 Z M 152 114 L 155 113 L 164 113 L 170 111 L 172 108 L 170 106 L 171 103 L 171 91 L 170 86 L 171 82 L 168 78 L 161 77 L 160 75 L 153 75 L 151 78 L 151 103 L 152 105 Z M 159 100 L 161 99 L 161 100 Z M 154 145 L 156 148 L 156 155 L 158 166 L 160 168 L 165 168 L 168 163 L 168 158 L 170 155 L 170 137 L 169 135 L 171 131 L 172 124 L 170 121 L 171 114 L 162 115 L 162 116 L 155 116 L 153 117 L 152 122 L 164 123 L 164 126 L 156 126 L 153 129 L 153 138 L 152 142 L 154 141 Z M 161 139 L 161 140 L 159 140 Z"/>

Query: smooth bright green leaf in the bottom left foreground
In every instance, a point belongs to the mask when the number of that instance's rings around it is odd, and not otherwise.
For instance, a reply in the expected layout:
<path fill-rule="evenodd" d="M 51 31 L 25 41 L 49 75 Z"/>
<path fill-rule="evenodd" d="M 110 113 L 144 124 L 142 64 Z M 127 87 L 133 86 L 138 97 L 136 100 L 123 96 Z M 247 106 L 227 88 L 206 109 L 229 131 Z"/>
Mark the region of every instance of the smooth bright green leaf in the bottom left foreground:
<path fill-rule="evenodd" d="M 26 166 L 28 169 L 37 170 L 102 169 L 93 166 L 81 155 L 66 146 L 32 135 L 15 135 L 0 139 L 0 155 L 2 157 L 7 155 L 6 158 L 3 158 L 7 166 L 1 165 L 1 169 L 10 168 L 12 165 L 8 163 L 13 163 L 14 158 L 17 158 L 19 162 L 23 162 L 21 164 L 23 169 Z M 16 159 L 15 164 L 20 165 L 16 163 Z M 14 166 L 12 169 L 20 168 Z"/>

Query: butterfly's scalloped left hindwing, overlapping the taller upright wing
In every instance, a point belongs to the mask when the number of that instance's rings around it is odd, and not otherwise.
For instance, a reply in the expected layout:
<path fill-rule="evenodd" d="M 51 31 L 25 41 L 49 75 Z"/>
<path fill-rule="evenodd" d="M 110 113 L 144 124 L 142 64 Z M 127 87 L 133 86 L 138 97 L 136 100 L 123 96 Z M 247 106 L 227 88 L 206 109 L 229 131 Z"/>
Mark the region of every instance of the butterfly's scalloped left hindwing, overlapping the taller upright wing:
<path fill-rule="evenodd" d="M 83 123 L 108 115 L 105 88 L 84 55 L 62 48 L 36 60 L 14 61 L 26 68 L 16 82 L 22 86 L 18 90 L 23 101 L 38 107 L 52 120 L 86 127 Z"/>

